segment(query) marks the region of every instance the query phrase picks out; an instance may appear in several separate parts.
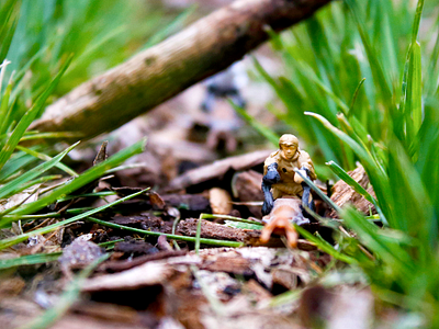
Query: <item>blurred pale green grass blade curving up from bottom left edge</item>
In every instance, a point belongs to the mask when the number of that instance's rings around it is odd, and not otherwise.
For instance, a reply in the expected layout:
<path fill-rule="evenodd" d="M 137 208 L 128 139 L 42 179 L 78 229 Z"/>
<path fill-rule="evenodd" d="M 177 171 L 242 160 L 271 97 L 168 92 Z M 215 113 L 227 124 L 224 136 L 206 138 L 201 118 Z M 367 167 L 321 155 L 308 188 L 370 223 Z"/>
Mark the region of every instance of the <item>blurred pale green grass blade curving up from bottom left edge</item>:
<path fill-rule="evenodd" d="M 41 317 L 36 318 L 35 320 L 31 321 L 24 327 L 21 327 L 21 329 L 45 329 L 48 328 L 52 324 L 54 324 L 57 319 L 59 319 L 69 309 L 69 307 L 78 299 L 83 280 L 90 276 L 95 266 L 98 266 L 109 257 L 110 254 L 106 253 L 97 259 L 95 261 L 93 261 L 86 269 L 83 269 L 69 283 L 66 291 L 63 293 L 63 295 L 57 300 L 54 307 L 47 309 Z"/>

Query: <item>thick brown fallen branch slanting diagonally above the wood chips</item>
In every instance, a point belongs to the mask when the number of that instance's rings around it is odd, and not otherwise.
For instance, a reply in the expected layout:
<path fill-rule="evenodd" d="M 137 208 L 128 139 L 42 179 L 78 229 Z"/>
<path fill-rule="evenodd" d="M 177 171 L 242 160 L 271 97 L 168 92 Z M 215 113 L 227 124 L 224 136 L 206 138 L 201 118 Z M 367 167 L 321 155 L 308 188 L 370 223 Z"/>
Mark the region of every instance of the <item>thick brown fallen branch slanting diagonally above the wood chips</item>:
<path fill-rule="evenodd" d="M 88 139 L 120 127 L 232 65 L 330 0 L 237 0 L 74 89 L 31 129 Z"/>

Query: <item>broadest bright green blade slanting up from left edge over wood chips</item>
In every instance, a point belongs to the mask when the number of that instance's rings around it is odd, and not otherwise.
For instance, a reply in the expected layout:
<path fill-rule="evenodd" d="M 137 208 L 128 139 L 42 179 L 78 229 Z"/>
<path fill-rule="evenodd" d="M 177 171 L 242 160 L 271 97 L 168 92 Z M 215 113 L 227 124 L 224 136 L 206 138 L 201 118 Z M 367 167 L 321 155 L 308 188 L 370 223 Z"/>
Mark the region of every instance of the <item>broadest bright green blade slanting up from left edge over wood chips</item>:
<path fill-rule="evenodd" d="M 110 157 L 105 161 L 90 168 L 85 173 L 79 175 L 78 178 L 71 180 L 70 182 L 66 183 L 65 185 L 54 190 L 46 196 L 42 198 L 24 204 L 16 211 L 14 211 L 11 215 L 15 215 L 15 217 L 11 216 L 8 220 L 0 220 L 0 227 L 4 226 L 5 224 L 20 219 L 21 215 L 27 215 L 40 211 L 41 208 L 49 205 L 50 203 L 55 202 L 56 200 L 78 190 L 79 188 L 97 180 L 98 178 L 102 177 L 102 174 L 113 168 L 121 162 L 125 161 L 126 159 L 131 158 L 132 156 L 139 154 L 144 150 L 146 144 L 146 138 L 137 141 L 136 144 L 123 149 L 122 151 L 117 152 L 116 155 Z M 3 218 L 4 219 L 4 218 Z"/>

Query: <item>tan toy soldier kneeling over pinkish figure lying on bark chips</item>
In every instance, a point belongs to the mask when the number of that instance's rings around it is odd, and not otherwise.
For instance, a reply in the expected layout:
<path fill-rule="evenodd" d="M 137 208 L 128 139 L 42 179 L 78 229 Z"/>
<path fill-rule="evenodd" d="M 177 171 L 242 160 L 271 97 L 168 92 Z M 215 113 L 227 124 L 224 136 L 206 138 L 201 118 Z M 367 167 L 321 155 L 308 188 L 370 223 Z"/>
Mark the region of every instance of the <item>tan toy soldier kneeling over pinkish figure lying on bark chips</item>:
<path fill-rule="evenodd" d="M 297 234 L 291 222 L 297 225 L 309 223 L 301 204 L 314 209 L 314 202 L 309 186 L 294 169 L 311 180 L 317 178 L 309 155 L 299 148 L 297 137 L 285 134 L 279 139 L 279 150 L 271 154 L 263 166 L 262 214 L 268 215 L 264 217 L 268 225 L 262 230 L 262 242 L 268 241 L 272 231 L 283 231 L 290 246 L 294 247 Z"/>

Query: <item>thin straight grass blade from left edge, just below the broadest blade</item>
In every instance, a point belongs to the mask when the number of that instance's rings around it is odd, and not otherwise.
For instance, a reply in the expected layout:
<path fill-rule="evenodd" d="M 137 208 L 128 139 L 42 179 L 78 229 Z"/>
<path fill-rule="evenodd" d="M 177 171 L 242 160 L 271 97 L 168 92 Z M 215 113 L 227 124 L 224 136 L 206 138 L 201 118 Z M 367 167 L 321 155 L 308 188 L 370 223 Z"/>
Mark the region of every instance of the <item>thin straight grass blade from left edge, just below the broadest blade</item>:
<path fill-rule="evenodd" d="M 106 208 L 112 207 L 112 206 L 114 206 L 116 204 L 123 203 L 123 202 L 125 202 L 125 201 L 127 201 L 127 200 L 130 200 L 130 198 L 132 198 L 134 196 L 137 196 L 137 195 L 139 195 L 142 193 L 145 193 L 149 189 L 142 190 L 139 192 L 133 193 L 133 194 L 131 194 L 128 196 L 122 197 L 120 200 L 116 200 L 116 201 L 114 201 L 112 203 L 109 203 L 109 204 L 105 204 L 103 206 L 100 206 L 100 207 L 94 208 L 92 211 L 89 211 L 87 213 L 83 213 L 83 214 L 77 215 L 75 217 L 71 217 L 71 218 L 68 218 L 68 219 L 65 219 L 65 220 L 48 225 L 46 227 L 42 227 L 42 228 L 35 229 L 33 231 L 22 234 L 22 235 L 16 236 L 16 237 L 11 237 L 11 238 L 8 238 L 8 239 L 0 240 L 0 250 L 9 248 L 9 247 L 12 247 L 12 246 L 14 246 L 16 243 L 20 243 L 22 241 L 25 241 L 30 237 L 33 237 L 33 236 L 36 236 L 36 235 L 47 234 L 49 231 L 53 231 L 53 230 L 57 229 L 58 227 L 61 227 L 63 225 L 67 225 L 67 224 L 74 223 L 76 220 L 79 220 L 79 219 L 89 217 L 91 215 L 94 215 L 94 214 L 97 214 L 99 212 L 102 212 L 103 209 L 106 209 Z"/>

